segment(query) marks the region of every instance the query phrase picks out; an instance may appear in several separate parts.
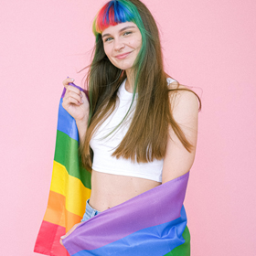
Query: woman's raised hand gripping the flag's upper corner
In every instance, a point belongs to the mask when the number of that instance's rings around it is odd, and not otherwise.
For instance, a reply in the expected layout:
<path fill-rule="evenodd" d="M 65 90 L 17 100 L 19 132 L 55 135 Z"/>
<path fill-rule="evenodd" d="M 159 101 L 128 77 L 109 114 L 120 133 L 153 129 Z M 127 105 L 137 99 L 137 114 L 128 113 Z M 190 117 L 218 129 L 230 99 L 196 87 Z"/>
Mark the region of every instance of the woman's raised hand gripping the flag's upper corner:
<path fill-rule="evenodd" d="M 83 91 L 69 85 L 73 79 L 63 80 L 66 93 L 63 98 L 62 106 L 78 123 L 87 123 L 90 113 L 90 104 Z"/>

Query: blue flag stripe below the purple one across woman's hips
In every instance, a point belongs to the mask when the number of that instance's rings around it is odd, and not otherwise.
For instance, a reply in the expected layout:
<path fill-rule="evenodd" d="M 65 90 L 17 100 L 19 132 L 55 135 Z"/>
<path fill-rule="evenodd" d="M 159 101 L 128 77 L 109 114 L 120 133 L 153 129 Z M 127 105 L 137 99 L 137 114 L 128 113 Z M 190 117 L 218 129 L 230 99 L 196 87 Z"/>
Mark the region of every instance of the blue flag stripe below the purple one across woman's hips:
<path fill-rule="evenodd" d="M 186 226 L 187 215 L 184 206 L 182 206 L 181 217 L 178 219 L 154 227 L 141 229 L 101 248 L 91 251 L 79 251 L 72 256 L 163 256 L 185 242 L 182 234 Z M 100 236 L 99 234 L 99 239 Z"/>

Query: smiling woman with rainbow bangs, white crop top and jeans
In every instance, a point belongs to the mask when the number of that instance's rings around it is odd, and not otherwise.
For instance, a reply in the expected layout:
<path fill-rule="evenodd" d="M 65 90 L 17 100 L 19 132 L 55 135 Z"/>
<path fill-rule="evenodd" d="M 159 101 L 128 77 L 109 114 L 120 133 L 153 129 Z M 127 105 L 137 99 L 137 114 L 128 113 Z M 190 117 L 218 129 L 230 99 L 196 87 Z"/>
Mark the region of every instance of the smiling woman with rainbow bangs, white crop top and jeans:
<path fill-rule="evenodd" d="M 93 23 L 90 103 L 63 81 L 91 198 L 82 221 L 186 174 L 197 144 L 197 95 L 165 74 L 155 20 L 139 0 L 104 5 Z"/>

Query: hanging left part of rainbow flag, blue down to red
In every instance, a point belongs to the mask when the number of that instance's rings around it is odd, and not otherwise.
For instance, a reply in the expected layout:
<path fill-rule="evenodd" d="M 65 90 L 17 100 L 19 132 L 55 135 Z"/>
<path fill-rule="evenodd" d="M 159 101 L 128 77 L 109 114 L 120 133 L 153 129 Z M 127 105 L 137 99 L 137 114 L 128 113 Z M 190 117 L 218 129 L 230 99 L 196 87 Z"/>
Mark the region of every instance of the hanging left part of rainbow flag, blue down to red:
<path fill-rule="evenodd" d="M 60 236 L 80 222 L 86 200 L 91 197 L 91 174 L 80 166 L 76 122 L 62 107 L 65 92 L 64 88 L 59 102 L 48 207 L 34 249 L 35 252 L 50 256 L 69 255 L 68 251 L 59 244 Z"/>

